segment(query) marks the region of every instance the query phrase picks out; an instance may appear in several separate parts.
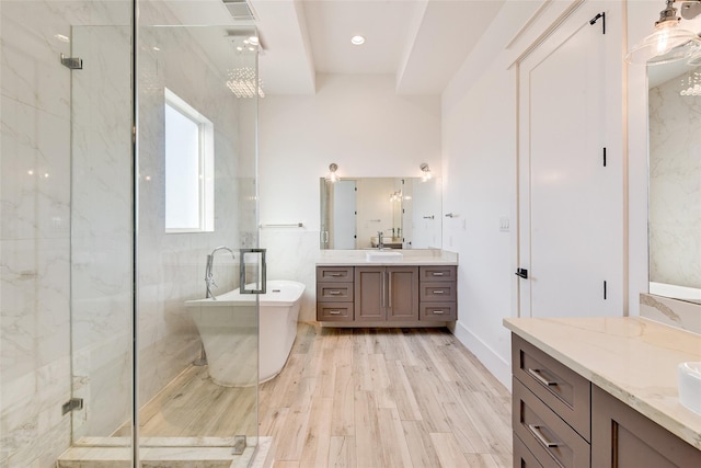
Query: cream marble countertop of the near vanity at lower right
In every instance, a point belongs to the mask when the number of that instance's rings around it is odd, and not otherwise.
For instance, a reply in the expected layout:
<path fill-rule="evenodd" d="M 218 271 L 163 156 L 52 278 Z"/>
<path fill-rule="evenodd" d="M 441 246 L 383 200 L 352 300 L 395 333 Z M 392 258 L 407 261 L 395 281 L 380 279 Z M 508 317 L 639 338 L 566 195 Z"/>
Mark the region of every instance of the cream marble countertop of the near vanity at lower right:
<path fill-rule="evenodd" d="M 701 415 L 682 407 L 677 365 L 701 361 L 701 335 L 640 317 L 504 319 L 504 326 L 701 449 Z"/>

